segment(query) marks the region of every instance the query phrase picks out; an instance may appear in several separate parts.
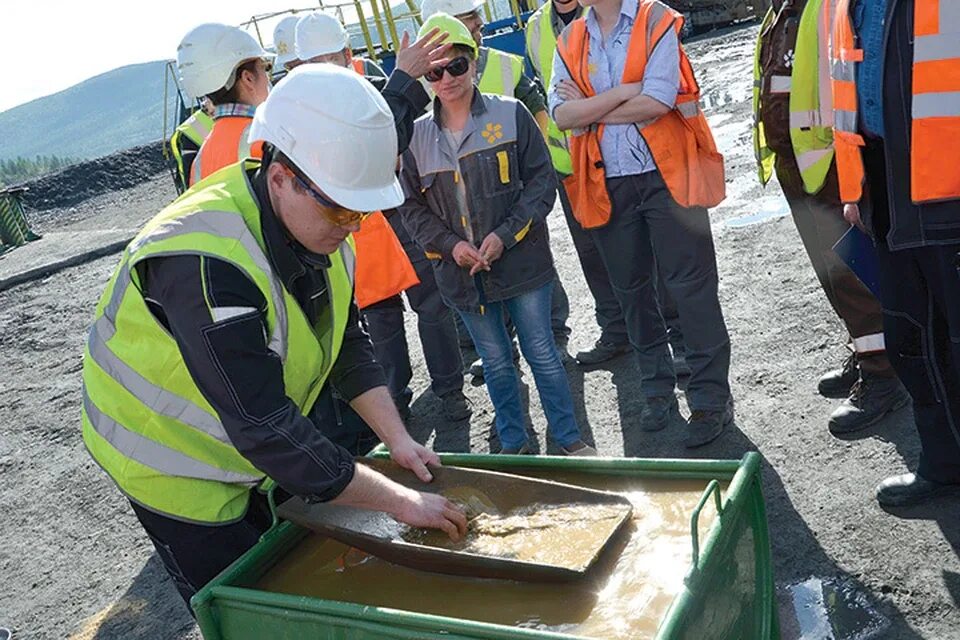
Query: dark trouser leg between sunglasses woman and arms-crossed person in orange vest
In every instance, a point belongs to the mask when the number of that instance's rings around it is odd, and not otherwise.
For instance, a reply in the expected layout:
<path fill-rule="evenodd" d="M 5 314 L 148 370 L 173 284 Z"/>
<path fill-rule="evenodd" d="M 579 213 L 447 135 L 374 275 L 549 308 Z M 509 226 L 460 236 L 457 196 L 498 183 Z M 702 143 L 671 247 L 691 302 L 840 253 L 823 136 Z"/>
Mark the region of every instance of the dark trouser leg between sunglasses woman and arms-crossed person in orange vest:
<path fill-rule="evenodd" d="M 603 264 L 600 249 L 590 232 L 581 227 L 573 217 L 573 207 L 562 182 L 557 191 L 560 195 L 560 207 L 573 239 L 573 247 L 580 259 L 583 277 L 593 296 L 600 339 L 610 344 L 624 344 L 627 342 L 627 324 L 623 319 L 623 311 L 620 310 L 620 302 L 610 284 L 610 275 Z"/>

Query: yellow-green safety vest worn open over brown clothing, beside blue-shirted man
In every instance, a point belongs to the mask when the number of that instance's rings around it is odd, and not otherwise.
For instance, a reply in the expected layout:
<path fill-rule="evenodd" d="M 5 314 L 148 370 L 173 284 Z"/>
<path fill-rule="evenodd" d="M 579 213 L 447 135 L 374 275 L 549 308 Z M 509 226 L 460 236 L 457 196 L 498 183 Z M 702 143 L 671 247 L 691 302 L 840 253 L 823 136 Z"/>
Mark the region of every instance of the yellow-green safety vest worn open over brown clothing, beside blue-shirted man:
<path fill-rule="evenodd" d="M 793 67 L 789 77 L 771 76 L 768 91 L 790 94 L 790 141 L 807 193 L 818 193 L 833 164 L 833 94 L 830 90 L 830 28 L 836 0 L 809 0 L 800 17 Z M 767 12 L 760 27 L 774 20 Z M 764 87 L 760 69 L 761 38 L 754 58 L 753 118 L 754 150 L 760 181 L 766 184 L 773 172 L 775 154 L 766 145 L 760 103 Z"/>

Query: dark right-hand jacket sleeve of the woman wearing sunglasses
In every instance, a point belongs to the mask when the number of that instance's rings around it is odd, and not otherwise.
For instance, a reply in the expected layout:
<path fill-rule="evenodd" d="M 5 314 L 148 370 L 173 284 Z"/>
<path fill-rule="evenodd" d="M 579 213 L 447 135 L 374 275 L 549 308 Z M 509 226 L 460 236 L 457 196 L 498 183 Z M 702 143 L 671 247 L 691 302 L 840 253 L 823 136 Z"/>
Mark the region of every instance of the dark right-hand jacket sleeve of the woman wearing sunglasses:
<path fill-rule="evenodd" d="M 523 189 L 503 223 L 493 230 L 505 249 L 520 242 L 533 224 L 543 222 L 557 199 L 557 174 L 550 152 L 526 107 L 517 103 L 517 162 Z"/>

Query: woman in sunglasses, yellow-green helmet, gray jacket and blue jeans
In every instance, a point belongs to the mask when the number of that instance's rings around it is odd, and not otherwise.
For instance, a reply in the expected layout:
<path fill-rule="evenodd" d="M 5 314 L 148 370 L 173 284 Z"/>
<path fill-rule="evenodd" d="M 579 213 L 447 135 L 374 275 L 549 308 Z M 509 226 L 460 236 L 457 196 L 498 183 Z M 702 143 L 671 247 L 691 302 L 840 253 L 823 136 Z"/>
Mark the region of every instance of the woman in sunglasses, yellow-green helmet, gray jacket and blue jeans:
<path fill-rule="evenodd" d="M 556 271 L 545 218 L 556 177 L 530 112 L 474 86 L 477 45 L 459 20 L 427 19 L 452 44 L 449 61 L 425 75 L 436 98 L 403 155 L 403 222 L 428 257 L 444 300 L 456 309 L 483 360 L 501 453 L 528 453 L 509 312 L 537 383 L 550 435 L 568 455 L 593 455 L 573 414 L 566 372 L 550 328 Z"/>

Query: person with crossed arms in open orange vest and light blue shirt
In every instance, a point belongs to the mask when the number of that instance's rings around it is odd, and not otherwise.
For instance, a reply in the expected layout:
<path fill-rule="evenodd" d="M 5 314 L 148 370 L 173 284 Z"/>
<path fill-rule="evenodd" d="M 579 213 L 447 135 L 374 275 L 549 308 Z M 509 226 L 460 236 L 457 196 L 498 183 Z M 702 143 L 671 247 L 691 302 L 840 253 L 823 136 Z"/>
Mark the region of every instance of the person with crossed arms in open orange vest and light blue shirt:
<path fill-rule="evenodd" d="M 657 276 L 658 286 L 676 301 L 691 369 L 685 443 L 701 446 L 733 422 L 733 406 L 713 237 L 707 210 L 697 204 L 718 202 L 707 202 L 707 196 L 722 199 L 722 171 L 713 166 L 701 175 L 699 154 L 676 151 L 703 147 L 714 162 L 720 158 L 679 43 L 683 19 L 653 0 L 581 4 L 591 11 L 561 35 L 548 92 L 557 126 L 582 132 L 575 132 L 583 136 L 572 141 L 575 148 L 583 149 L 576 147 L 580 140 L 599 138 L 601 157 L 588 162 L 587 155 L 572 154 L 574 178 L 581 181 L 574 184 L 595 178 L 593 190 L 578 197 L 590 197 L 598 207 L 574 212 L 584 220 L 597 216 L 590 229 L 638 354 L 646 398 L 640 422 L 647 431 L 665 428 L 678 413 L 676 376 L 654 291 Z M 622 83 L 624 77 L 633 82 Z M 695 192 L 693 185 L 702 189 Z M 681 199 L 690 206 L 681 206 Z M 604 200 L 605 209 L 599 207 Z"/>

